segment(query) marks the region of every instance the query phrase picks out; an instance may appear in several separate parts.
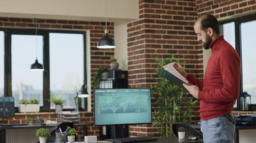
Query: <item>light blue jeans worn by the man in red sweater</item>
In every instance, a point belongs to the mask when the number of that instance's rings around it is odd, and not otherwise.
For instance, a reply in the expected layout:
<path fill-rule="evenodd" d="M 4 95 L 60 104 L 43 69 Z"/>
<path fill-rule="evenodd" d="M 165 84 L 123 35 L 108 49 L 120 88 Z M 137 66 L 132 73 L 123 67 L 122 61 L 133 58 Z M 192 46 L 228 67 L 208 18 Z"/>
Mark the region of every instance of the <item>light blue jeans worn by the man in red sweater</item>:
<path fill-rule="evenodd" d="M 233 117 L 232 113 L 230 115 Z M 235 125 L 221 116 L 210 120 L 201 120 L 204 143 L 233 142 Z"/>

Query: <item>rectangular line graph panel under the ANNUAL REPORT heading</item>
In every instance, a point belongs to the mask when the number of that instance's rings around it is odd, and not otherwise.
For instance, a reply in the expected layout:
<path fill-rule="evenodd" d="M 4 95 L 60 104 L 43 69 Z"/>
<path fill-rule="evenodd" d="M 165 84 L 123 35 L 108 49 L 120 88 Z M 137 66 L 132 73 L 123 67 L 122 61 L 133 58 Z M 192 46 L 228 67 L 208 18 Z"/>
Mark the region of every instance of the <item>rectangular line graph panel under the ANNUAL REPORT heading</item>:
<path fill-rule="evenodd" d="M 98 100 L 100 114 L 147 112 L 147 96 L 107 96 Z"/>

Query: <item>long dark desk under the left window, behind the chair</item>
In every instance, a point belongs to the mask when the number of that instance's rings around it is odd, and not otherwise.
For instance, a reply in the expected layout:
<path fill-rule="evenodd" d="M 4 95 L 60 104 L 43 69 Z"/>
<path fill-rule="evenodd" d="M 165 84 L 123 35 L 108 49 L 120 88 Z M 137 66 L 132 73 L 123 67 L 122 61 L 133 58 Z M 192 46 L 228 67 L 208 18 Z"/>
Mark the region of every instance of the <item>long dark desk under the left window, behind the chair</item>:
<path fill-rule="evenodd" d="M 6 129 L 36 129 L 36 128 L 52 128 L 54 127 L 56 124 L 51 124 L 51 125 L 13 125 L 13 126 L 0 126 L 0 130 L 1 130 L 1 142 L 5 143 L 5 135 L 6 135 Z M 92 126 L 92 124 L 88 124 L 88 123 L 78 123 L 78 124 L 74 124 L 74 127 L 83 127 L 83 135 L 86 136 L 87 135 L 87 127 L 88 126 Z"/>

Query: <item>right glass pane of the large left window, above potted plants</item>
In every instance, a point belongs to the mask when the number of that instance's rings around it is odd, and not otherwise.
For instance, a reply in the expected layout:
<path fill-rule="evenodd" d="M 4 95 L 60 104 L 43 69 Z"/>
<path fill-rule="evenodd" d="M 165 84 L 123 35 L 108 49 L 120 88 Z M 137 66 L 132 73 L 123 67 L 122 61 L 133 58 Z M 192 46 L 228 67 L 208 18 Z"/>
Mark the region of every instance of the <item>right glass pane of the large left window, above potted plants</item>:
<path fill-rule="evenodd" d="M 83 83 L 83 69 L 83 35 L 50 33 L 50 91 L 68 99 L 63 108 L 75 107 L 74 89 Z"/>

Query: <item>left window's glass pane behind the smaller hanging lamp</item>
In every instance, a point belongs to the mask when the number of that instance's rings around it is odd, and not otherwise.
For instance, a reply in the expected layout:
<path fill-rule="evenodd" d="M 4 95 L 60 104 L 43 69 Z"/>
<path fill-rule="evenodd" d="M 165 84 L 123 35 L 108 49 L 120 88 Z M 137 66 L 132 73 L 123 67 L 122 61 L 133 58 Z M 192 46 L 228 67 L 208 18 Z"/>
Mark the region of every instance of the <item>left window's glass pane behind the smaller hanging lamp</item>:
<path fill-rule="evenodd" d="M 21 99 L 34 98 L 39 99 L 40 106 L 43 106 L 42 72 L 29 70 L 36 55 L 38 62 L 42 63 L 42 36 L 12 35 L 11 39 L 12 96 L 15 107 L 18 107 Z"/>

